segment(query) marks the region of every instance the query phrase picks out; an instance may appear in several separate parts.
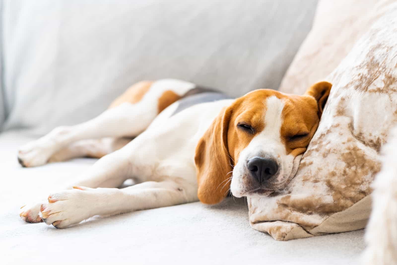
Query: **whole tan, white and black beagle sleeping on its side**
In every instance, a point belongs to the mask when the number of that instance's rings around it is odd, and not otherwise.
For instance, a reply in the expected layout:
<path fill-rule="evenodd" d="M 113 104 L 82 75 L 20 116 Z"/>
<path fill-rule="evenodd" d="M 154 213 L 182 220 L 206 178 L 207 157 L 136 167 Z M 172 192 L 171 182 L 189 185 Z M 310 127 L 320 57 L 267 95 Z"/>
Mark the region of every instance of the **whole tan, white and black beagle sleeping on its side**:
<path fill-rule="evenodd" d="M 94 215 L 216 204 L 228 192 L 269 196 L 295 176 L 330 89 L 323 81 L 303 96 L 259 89 L 234 100 L 174 79 L 134 84 L 98 117 L 19 149 L 24 167 L 100 158 L 20 216 L 65 228 Z M 118 188 L 127 179 L 138 184 Z"/>

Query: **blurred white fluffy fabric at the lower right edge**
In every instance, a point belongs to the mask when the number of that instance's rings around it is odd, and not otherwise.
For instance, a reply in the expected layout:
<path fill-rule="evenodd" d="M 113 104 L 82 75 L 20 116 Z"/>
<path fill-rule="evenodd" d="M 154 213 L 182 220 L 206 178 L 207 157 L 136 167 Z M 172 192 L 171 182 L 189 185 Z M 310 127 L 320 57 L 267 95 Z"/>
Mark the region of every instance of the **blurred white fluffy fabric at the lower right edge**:
<path fill-rule="evenodd" d="M 397 127 L 382 148 L 382 170 L 372 184 L 372 213 L 365 235 L 363 262 L 397 264 Z"/>

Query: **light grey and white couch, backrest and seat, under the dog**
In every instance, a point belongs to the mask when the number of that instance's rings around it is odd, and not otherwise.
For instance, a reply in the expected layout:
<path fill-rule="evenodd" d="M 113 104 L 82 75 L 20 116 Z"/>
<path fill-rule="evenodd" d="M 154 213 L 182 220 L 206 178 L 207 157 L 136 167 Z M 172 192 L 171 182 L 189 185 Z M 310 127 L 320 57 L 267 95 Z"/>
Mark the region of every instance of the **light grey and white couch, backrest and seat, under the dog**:
<path fill-rule="evenodd" d="M 0 263 L 359 264 L 363 230 L 278 242 L 250 227 L 245 199 L 93 217 L 62 230 L 18 216 L 95 162 L 22 168 L 19 146 L 95 117 L 143 79 L 185 79 L 231 96 L 278 88 L 316 4 L 2 0 Z"/>

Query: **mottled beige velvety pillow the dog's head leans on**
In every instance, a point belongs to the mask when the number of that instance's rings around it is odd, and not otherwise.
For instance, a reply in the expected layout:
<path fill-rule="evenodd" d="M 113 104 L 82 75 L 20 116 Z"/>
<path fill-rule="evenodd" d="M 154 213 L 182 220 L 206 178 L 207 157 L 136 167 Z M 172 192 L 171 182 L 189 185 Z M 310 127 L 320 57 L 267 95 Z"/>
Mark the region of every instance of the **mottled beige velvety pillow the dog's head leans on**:
<path fill-rule="evenodd" d="M 297 175 L 274 197 L 248 199 L 251 226 L 277 240 L 366 225 L 378 153 L 397 121 L 397 2 L 327 80 L 331 93 Z"/>

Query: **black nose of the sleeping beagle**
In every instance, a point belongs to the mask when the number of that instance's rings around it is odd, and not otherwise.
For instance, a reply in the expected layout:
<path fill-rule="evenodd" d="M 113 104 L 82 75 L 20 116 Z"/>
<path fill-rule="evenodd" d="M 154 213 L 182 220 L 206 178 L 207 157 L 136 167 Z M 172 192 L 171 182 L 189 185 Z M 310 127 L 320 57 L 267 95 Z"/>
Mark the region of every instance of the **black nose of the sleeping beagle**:
<path fill-rule="evenodd" d="M 278 165 L 273 159 L 254 157 L 248 160 L 248 169 L 259 183 L 273 177 L 278 170 Z"/>

